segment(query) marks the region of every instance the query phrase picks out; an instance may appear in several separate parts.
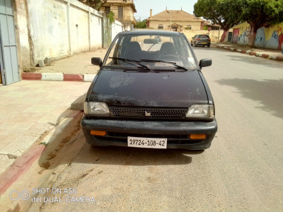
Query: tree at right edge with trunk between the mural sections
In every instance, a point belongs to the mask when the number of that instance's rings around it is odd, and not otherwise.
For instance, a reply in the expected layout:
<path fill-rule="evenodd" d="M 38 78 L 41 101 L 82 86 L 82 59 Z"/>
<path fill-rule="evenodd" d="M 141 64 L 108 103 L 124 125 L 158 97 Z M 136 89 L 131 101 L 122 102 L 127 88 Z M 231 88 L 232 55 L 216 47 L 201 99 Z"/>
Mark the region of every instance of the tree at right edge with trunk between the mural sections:
<path fill-rule="evenodd" d="M 239 0 L 238 0 L 239 1 Z M 259 28 L 283 21 L 283 0 L 240 0 L 242 1 L 241 20 L 250 24 L 248 45 L 255 45 Z"/>

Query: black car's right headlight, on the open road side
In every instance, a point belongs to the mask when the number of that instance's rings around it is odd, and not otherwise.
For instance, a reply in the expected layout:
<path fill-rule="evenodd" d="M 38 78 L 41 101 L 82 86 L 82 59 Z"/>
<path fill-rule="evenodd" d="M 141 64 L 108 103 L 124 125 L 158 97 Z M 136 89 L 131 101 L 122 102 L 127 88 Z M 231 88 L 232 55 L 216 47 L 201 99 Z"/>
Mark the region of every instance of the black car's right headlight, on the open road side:
<path fill-rule="evenodd" d="M 191 105 L 186 114 L 187 118 L 193 117 L 214 117 L 213 105 Z"/>

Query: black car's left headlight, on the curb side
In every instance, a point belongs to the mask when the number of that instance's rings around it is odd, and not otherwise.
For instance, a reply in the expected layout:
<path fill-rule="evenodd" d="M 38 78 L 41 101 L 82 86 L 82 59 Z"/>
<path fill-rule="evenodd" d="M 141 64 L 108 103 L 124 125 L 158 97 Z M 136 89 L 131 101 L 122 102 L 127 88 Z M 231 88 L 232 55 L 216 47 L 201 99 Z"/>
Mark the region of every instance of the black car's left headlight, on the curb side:
<path fill-rule="evenodd" d="M 84 102 L 85 114 L 109 115 L 109 109 L 105 102 Z"/>

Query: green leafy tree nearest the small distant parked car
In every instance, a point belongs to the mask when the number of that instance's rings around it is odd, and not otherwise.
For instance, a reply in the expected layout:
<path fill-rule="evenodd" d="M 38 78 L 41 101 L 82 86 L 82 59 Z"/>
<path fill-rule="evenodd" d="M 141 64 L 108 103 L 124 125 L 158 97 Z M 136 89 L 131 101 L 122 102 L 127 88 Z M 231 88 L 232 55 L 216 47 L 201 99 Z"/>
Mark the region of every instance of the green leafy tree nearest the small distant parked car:
<path fill-rule="evenodd" d="M 220 42 L 224 42 L 229 29 L 240 22 L 241 4 L 243 2 L 238 0 L 198 0 L 194 5 L 194 14 L 220 25 L 224 30 Z"/>

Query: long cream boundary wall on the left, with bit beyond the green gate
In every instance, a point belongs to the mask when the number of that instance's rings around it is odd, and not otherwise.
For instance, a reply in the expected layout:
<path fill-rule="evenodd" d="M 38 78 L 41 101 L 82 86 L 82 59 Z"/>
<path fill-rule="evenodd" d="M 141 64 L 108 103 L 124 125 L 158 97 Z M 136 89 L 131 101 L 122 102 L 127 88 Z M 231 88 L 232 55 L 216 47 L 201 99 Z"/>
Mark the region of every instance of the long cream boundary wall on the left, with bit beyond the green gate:
<path fill-rule="evenodd" d="M 103 16 L 79 1 L 16 0 L 16 13 L 21 68 L 103 47 Z"/>

